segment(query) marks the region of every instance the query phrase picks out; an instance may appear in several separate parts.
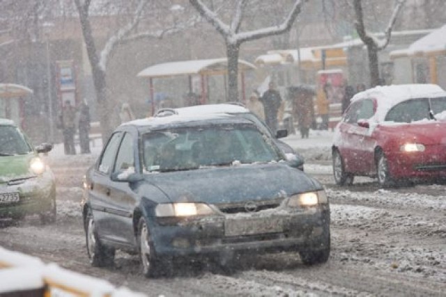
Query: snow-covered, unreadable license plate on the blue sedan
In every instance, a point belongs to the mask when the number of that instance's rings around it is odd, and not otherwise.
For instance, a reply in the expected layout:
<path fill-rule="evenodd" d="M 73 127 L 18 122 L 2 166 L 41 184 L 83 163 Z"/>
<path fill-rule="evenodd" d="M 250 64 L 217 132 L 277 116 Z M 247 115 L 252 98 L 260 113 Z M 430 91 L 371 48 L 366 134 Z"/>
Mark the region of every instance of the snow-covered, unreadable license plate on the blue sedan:
<path fill-rule="evenodd" d="M 275 233 L 283 230 L 284 224 L 281 218 L 228 219 L 224 222 L 226 236 Z"/>

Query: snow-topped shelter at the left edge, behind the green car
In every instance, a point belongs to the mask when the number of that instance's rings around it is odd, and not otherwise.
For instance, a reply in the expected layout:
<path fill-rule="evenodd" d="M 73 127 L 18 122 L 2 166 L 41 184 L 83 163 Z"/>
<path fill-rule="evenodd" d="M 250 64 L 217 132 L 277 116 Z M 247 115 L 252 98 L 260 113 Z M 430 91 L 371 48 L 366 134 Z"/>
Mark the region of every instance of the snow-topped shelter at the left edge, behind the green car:
<path fill-rule="evenodd" d="M 24 97 L 33 90 L 15 83 L 0 83 L 0 118 L 13 120 L 20 127 L 24 120 Z"/>

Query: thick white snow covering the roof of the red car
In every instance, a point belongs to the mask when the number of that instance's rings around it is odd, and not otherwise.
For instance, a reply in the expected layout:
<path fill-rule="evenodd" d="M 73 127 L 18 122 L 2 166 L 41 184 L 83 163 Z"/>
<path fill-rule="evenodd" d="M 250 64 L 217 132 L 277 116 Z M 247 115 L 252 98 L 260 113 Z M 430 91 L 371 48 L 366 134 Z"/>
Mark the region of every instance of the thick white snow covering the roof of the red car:
<path fill-rule="evenodd" d="M 400 102 L 408 99 L 443 97 L 446 91 L 438 85 L 430 83 L 413 83 L 407 85 L 377 86 L 364 92 L 357 93 L 351 102 L 363 98 L 374 98 L 378 102 L 374 119 L 378 122 L 384 120 L 387 111 Z"/>

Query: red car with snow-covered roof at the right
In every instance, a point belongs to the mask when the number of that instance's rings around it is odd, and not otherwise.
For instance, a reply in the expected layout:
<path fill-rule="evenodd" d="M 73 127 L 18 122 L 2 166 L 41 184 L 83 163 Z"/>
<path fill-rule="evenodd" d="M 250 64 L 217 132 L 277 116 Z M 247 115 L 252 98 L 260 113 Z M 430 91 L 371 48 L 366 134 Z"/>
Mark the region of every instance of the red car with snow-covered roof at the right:
<path fill-rule="evenodd" d="M 357 93 L 337 125 L 334 180 L 446 178 L 446 92 L 432 84 L 382 86 Z"/>

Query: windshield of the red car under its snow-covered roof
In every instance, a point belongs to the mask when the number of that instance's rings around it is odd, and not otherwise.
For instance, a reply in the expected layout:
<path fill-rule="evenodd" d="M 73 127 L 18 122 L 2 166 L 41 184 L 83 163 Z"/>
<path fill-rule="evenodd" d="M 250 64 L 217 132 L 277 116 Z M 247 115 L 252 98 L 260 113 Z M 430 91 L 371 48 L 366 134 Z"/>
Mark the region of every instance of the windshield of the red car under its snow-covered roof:
<path fill-rule="evenodd" d="M 385 121 L 446 120 L 446 97 L 410 99 L 395 105 Z"/>

